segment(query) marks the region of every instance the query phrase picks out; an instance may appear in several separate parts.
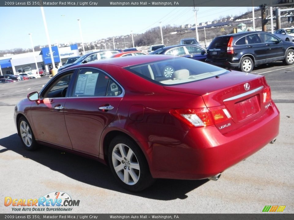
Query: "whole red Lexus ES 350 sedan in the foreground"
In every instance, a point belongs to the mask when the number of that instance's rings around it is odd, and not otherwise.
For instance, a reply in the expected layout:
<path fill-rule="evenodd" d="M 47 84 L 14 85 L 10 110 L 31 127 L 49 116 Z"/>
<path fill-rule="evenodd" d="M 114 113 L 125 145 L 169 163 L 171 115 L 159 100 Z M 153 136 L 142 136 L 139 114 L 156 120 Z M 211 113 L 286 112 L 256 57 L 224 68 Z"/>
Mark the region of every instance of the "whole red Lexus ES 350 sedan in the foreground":
<path fill-rule="evenodd" d="M 279 132 L 264 76 L 170 55 L 68 68 L 20 101 L 14 119 L 26 149 L 97 159 L 130 191 L 156 178 L 217 180 Z"/>

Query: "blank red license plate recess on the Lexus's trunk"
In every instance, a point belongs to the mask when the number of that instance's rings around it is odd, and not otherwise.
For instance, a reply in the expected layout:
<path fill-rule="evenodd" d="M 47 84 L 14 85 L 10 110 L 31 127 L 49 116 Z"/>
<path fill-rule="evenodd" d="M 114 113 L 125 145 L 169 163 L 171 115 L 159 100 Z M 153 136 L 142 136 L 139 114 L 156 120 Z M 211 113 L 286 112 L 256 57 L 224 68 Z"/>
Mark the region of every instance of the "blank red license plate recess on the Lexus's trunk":
<path fill-rule="evenodd" d="M 235 103 L 238 121 L 247 119 L 260 111 L 259 100 L 257 95 Z"/>

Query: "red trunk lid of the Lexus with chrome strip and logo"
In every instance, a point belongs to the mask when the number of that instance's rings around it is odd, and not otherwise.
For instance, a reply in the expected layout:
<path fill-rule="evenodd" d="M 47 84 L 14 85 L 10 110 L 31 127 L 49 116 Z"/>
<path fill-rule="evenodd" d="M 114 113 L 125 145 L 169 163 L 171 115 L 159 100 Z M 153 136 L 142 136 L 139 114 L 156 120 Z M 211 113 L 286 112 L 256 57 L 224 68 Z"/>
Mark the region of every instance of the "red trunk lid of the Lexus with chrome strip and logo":
<path fill-rule="evenodd" d="M 237 71 L 220 75 L 219 78 L 213 77 L 164 88 L 201 95 L 208 108 L 225 106 L 232 118 L 216 124 L 223 134 L 242 127 L 248 123 L 248 119 L 254 120 L 262 116 L 270 103 L 264 102 L 264 90 L 269 89 L 264 76 Z"/>

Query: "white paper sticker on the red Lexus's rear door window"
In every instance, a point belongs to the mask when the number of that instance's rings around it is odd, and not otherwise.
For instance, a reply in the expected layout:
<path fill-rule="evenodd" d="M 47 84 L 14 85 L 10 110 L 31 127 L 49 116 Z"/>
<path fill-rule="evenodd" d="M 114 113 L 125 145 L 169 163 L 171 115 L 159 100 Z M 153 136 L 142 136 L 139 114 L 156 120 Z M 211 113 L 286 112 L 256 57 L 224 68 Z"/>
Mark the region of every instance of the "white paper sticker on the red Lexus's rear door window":
<path fill-rule="evenodd" d="M 74 94 L 93 96 L 95 94 L 98 74 L 99 73 L 79 75 Z"/>

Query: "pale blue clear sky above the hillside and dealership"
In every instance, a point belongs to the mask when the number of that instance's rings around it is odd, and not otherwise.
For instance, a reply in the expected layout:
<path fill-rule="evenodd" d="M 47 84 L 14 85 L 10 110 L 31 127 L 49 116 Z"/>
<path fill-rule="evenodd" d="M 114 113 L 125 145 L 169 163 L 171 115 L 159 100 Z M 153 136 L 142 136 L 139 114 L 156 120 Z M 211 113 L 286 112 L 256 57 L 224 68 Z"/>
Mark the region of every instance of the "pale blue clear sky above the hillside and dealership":
<path fill-rule="evenodd" d="M 162 26 L 195 24 L 192 7 L 44 7 L 51 44 L 84 43 L 107 37 L 141 34 Z M 197 23 L 240 15 L 252 7 L 198 7 Z M 0 7 L 0 50 L 47 45 L 40 7 Z"/>

